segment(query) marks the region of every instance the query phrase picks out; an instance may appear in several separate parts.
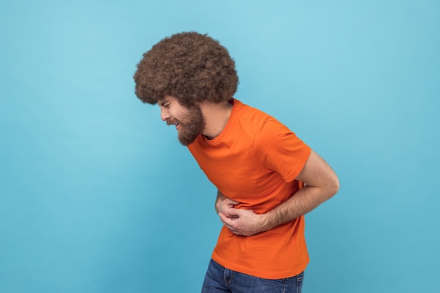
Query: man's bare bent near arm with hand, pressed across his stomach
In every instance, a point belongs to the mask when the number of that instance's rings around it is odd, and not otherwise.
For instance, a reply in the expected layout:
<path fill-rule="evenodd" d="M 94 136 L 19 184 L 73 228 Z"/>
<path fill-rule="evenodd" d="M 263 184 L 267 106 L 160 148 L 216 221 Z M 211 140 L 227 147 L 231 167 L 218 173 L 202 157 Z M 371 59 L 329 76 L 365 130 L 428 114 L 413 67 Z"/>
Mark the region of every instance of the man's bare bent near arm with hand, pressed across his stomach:
<path fill-rule="evenodd" d="M 308 213 L 339 190 L 339 180 L 335 172 L 313 150 L 296 179 L 306 183 L 306 186 L 275 209 L 266 214 L 255 214 L 253 211 L 234 209 L 232 206 L 217 211 L 221 221 L 231 232 L 251 236 Z M 219 202 L 219 206 L 224 207 L 224 204 Z"/>

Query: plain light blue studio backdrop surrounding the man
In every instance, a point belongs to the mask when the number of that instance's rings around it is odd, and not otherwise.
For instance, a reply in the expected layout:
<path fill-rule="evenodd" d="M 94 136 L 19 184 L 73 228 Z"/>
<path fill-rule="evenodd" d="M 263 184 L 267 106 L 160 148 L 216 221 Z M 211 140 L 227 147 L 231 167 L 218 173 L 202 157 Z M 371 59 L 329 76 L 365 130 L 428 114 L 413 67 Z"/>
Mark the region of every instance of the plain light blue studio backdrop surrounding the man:
<path fill-rule="evenodd" d="M 196 30 L 235 95 L 337 171 L 306 216 L 304 292 L 436 292 L 439 1 L 0 4 L 0 292 L 199 292 L 216 189 L 157 107 L 143 52 Z"/>

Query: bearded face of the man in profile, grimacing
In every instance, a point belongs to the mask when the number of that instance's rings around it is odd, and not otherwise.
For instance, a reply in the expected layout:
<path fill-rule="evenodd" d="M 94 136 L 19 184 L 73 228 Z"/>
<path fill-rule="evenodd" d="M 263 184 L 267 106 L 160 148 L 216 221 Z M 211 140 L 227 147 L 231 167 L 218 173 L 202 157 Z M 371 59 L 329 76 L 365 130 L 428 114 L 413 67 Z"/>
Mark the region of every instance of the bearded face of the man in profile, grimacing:
<path fill-rule="evenodd" d="M 160 118 L 167 125 L 176 125 L 179 141 L 182 145 L 189 145 L 205 129 L 205 117 L 198 105 L 186 108 L 172 96 L 165 96 L 157 101 L 160 106 Z"/>

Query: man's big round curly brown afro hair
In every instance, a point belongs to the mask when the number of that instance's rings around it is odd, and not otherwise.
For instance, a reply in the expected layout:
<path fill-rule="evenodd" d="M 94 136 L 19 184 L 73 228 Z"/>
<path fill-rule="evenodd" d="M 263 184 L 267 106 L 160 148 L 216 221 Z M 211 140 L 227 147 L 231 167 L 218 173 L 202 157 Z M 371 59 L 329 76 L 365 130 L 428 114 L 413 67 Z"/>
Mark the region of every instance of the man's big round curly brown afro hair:
<path fill-rule="evenodd" d="M 221 103 L 237 91 L 235 62 L 219 41 L 207 34 L 181 32 L 162 39 L 143 54 L 134 74 L 136 96 L 156 104 L 173 96 L 181 105 L 202 100 Z"/>

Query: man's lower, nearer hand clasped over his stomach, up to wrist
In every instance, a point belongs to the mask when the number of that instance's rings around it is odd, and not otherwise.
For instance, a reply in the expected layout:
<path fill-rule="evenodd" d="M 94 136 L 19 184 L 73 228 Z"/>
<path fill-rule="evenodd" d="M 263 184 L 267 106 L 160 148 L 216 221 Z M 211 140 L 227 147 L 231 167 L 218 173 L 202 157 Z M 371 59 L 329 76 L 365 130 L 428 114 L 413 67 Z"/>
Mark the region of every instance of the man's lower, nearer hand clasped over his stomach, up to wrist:
<path fill-rule="evenodd" d="M 221 221 L 232 233 L 242 236 L 252 236 L 263 232 L 264 214 L 255 214 L 250 209 L 234 209 L 230 207 L 226 213 L 219 211 Z"/>

